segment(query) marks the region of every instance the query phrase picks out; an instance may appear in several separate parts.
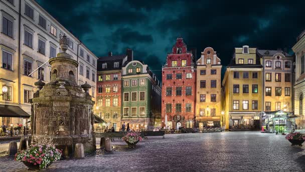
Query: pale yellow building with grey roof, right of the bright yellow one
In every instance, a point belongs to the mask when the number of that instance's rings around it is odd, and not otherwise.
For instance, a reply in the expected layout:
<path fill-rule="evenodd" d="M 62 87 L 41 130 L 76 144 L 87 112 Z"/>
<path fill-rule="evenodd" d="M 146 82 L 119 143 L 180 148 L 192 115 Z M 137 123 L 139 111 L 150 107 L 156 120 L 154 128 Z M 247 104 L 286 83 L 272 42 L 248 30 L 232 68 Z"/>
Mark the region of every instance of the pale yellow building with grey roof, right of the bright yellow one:
<path fill-rule="evenodd" d="M 256 52 L 263 66 L 263 112 L 292 113 L 293 56 L 282 50 Z"/>

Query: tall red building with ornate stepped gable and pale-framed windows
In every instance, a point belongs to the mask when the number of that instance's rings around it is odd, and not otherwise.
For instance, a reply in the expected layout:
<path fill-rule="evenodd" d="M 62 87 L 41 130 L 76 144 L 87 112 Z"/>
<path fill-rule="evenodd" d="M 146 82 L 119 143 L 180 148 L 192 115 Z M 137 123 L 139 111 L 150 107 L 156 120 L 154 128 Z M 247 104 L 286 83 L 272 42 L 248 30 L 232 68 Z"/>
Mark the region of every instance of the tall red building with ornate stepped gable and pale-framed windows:
<path fill-rule="evenodd" d="M 196 50 L 187 50 L 183 38 L 177 38 L 172 53 L 162 68 L 163 126 L 192 129 L 195 126 Z"/>

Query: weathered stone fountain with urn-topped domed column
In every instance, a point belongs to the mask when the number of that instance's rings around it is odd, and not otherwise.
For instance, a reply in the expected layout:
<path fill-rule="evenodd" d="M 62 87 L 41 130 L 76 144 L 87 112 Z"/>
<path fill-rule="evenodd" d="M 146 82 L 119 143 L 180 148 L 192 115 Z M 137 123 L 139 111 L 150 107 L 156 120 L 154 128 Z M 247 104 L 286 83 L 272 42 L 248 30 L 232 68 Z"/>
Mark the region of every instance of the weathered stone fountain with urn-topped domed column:
<path fill-rule="evenodd" d="M 37 92 L 32 99 L 32 140 L 51 138 L 66 157 L 73 154 L 75 144 L 83 143 L 85 152 L 95 150 L 94 115 L 87 83 L 76 82 L 78 62 L 69 55 L 68 39 L 60 40 L 63 52 L 49 60 L 51 80 L 35 82 Z M 82 89 L 84 91 L 82 91 Z"/>

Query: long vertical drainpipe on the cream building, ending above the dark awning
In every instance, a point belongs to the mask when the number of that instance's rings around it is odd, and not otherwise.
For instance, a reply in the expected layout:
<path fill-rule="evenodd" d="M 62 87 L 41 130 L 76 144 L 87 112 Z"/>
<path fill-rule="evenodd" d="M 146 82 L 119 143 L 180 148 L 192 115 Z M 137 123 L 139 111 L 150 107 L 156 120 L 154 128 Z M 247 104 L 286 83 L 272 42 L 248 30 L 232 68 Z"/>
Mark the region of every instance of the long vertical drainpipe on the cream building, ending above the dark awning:
<path fill-rule="evenodd" d="M 21 104 L 21 75 L 20 75 L 20 66 L 21 66 L 21 0 L 19 0 L 19 27 L 18 27 L 18 105 Z"/>

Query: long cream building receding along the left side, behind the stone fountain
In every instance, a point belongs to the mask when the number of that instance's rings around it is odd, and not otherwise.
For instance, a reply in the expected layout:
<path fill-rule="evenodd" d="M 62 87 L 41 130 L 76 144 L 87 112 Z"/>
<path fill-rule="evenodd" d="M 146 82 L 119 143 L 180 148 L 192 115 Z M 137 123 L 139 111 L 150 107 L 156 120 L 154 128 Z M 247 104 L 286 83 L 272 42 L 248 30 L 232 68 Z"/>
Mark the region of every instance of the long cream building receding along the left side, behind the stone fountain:
<path fill-rule="evenodd" d="M 77 81 L 92 86 L 90 94 L 94 100 L 97 57 L 80 40 L 36 1 L 0 1 L 0 10 L 0 85 L 9 87 L 0 105 L 18 106 L 31 114 L 29 100 L 36 91 L 34 82 L 50 81 L 51 66 L 47 61 L 61 51 L 62 35 L 69 38 L 67 52 L 79 62 Z M 6 124 L 26 122 L 22 118 L 0 120 Z"/>

